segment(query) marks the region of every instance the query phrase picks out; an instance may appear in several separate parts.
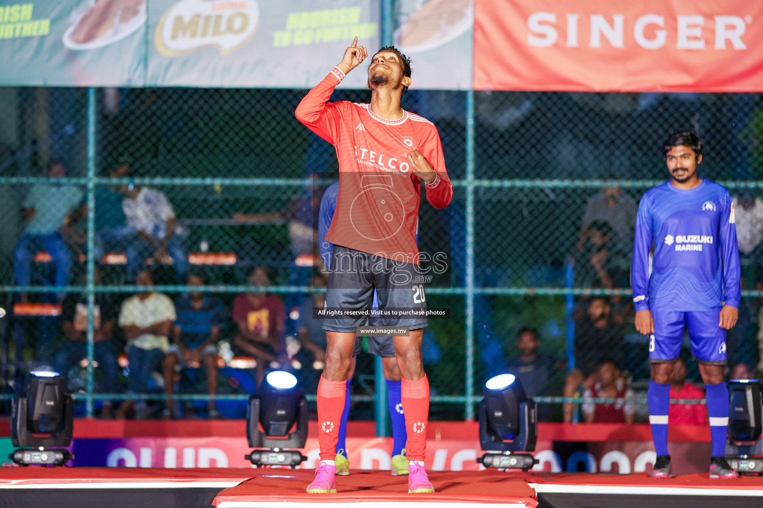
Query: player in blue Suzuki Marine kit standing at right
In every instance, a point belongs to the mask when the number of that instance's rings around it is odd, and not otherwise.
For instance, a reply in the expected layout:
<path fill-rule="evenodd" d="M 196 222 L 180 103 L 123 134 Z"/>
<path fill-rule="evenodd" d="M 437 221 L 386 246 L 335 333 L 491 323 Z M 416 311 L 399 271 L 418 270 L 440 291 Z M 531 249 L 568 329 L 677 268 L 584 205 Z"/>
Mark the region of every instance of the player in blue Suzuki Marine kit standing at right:
<path fill-rule="evenodd" d="M 649 336 L 652 363 L 647 400 L 657 460 L 650 476 L 670 478 L 669 392 L 688 327 L 691 353 L 707 389 L 710 478 L 737 478 L 723 458 L 729 424 L 729 391 L 723 379 L 726 330 L 736 324 L 741 298 L 734 206 L 725 187 L 697 174 L 703 154 L 696 133 L 671 134 L 663 155 L 671 179 L 641 199 L 631 273 L 636 330 Z"/>

